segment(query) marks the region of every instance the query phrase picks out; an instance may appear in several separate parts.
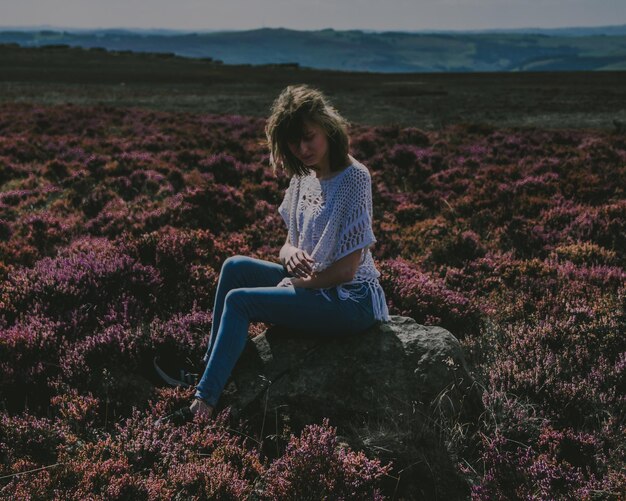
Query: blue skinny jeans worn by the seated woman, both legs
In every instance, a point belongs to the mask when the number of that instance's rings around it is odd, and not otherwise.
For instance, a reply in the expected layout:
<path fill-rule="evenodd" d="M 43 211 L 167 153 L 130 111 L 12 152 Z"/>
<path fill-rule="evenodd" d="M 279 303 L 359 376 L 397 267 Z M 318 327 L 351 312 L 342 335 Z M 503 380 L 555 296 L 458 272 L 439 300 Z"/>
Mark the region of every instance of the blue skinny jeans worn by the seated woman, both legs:
<path fill-rule="evenodd" d="M 234 256 L 224 262 L 204 356 L 208 362 L 196 387 L 196 397 L 215 407 L 246 345 L 251 321 L 319 336 L 354 334 L 376 323 L 369 292 L 358 300 L 342 300 L 335 288 L 328 291 L 327 299 L 319 289 L 276 287 L 287 276 L 281 265 L 269 261 Z"/>

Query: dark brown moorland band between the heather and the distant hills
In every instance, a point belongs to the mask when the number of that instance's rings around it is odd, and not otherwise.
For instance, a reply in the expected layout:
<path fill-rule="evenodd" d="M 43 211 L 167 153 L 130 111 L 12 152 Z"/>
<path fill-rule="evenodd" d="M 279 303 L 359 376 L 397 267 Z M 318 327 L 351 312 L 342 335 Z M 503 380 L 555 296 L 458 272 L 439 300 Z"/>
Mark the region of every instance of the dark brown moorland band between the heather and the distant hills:
<path fill-rule="evenodd" d="M 359 124 L 610 130 L 626 123 L 626 71 L 383 74 L 11 45 L 0 46 L 0 68 L 0 103 L 264 117 L 284 86 L 308 83 Z"/>

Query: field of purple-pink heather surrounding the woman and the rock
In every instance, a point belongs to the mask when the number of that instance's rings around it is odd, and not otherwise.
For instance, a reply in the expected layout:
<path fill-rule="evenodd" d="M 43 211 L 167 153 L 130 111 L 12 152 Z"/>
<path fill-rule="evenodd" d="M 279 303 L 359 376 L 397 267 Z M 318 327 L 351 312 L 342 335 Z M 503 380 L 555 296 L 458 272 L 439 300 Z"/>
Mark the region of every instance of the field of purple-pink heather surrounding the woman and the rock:
<path fill-rule="evenodd" d="M 393 464 L 336 447 L 332 422 L 273 456 L 227 409 L 154 425 L 190 396 L 154 356 L 199 361 L 221 263 L 284 242 L 263 125 L 0 105 L 0 497 L 394 497 Z M 620 499 L 624 135 L 355 125 L 351 152 L 391 313 L 449 329 L 484 392 L 479 431 L 447 433 L 459 498 Z"/>

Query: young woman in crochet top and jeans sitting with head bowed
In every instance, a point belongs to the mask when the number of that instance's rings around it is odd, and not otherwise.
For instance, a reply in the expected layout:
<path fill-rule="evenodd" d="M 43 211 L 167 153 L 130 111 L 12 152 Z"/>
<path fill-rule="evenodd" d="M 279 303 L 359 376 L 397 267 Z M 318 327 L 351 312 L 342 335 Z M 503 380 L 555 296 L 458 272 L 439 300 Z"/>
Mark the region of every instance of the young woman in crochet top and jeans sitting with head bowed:
<path fill-rule="evenodd" d="M 369 250 L 376 241 L 370 174 L 348 154 L 347 122 L 318 90 L 289 86 L 265 132 L 274 171 L 291 175 L 278 209 L 288 230 L 282 264 L 234 256 L 222 265 L 207 365 L 181 410 L 186 418 L 212 414 L 251 321 L 344 336 L 389 320 Z"/>

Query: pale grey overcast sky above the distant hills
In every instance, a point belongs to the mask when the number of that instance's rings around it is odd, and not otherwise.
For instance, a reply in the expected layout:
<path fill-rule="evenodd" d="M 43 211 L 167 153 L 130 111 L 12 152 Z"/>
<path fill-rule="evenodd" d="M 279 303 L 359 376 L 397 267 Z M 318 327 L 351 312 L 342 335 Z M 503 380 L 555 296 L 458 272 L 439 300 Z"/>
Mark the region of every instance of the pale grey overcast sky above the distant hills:
<path fill-rule="evenodd" d="M 229 30 L 626 24 L 626 0 L 0 0 L 0 26 Z"/>

